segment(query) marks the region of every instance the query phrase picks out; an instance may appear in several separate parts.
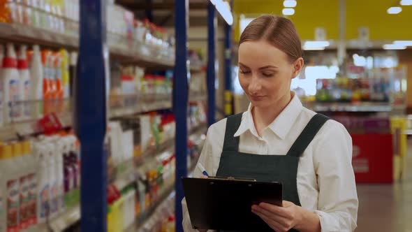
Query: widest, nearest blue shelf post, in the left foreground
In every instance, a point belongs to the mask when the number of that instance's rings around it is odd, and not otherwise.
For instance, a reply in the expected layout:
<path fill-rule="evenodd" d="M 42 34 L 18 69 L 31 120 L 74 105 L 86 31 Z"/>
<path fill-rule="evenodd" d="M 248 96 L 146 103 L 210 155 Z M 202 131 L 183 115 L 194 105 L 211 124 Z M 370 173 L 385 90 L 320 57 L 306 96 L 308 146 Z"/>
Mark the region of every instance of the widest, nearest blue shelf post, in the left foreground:
<path fill-rule="evenodd" d="M 81 231 L 107 231 L 106 5 L 80 2 L 78 80 L 75 80 L 75 128 L 81 144 Z"/>

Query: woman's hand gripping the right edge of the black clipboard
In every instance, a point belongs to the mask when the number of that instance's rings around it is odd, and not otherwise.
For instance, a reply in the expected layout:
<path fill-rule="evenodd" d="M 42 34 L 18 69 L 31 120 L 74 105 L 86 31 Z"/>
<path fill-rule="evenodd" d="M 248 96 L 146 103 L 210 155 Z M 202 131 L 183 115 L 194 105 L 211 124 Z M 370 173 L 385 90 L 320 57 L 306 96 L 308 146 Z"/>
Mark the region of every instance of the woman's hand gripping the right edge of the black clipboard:
<path fill-rule="evenodd" d="M 252 212 L 277 232 L 293 229 L 297 224 L 300 224 L 303 217 L 302 208 L 290 201 L 283 201 L 283 207 L 268 203 L 252 205 Z"/>

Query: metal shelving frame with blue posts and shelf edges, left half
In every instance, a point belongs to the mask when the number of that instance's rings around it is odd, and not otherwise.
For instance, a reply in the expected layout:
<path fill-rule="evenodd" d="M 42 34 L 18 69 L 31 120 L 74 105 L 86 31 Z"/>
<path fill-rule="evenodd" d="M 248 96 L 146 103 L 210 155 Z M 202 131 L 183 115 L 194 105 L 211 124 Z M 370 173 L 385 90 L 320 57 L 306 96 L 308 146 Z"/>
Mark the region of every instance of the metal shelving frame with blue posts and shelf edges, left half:
<path fill-rule="evenodd" d="M 199 102 L 209 102 L 208 108 L 214 110 L 214 94 L 213 89 L 209 87 L 207 93 L 205 89 L 202 92 L 190 92 L 188 88 L 188 73 L 203 73 L 205 65 L 195 62 L 189 64 L 187 55 L 187 27 L 186 20 L 189 9 L 186 8 L 185 1 L 175 2 L 176 15 L 176 45 L 175 50 L 165 55 L 164 51 L 154 49 L 153 47 L 133 41 L 131 38 L 126 38 L 119 34 L 99 32 L 105 31 L 106 25 L 102 18 L 105 18 L 103 1 L 94 0 L 92 3 L 79 1 L 80 3 L 80 22 L 75 22 L 66 17 L 54 14 L 53 17 L 61 17 L 63 20 L 71 24 L 76 24 L 79 28 L 79 34 L 62 33 L 57 30 L 49 30 L 39 27 L 31 27 L 27 24 L 18 22 L 3 23 L 0 22 L 0 43 L 13 43 L 15 45 L 40 45 L 42 49 L 56 50 L 64 48 L 69 51 L 79 52 L 78 62 L 81 67 L 78 68 L 78 82 L 75 83 L 77 97 L 86 98 L 87 101 L 78 101 L 76 98 L 65 99 L 69 109 L 64 112 L 56 113 L 57 121 L 61 123 L 61 128 L 75 128 L 82 144 L 81 153 L 84 155 L 81 160 L 82 164 L 82 204 L 75 205 L 72 208 L 66 208 L 59 215 L 52 218 L 47 218 L 47 222 L 38 224 L 36 231 L 64 231 L 73 224 L 78 224 L 80 215 L 84 219 L 81 220 L 82 231 L 105 231 L 105 213 L 107 210 L 105 184 L 114 184 L 117 189 L 124 189 L 136 180 L 137 171 L 142 165 L 147 164 L 157 157 L 162 152 L 174 152 L 176 154 L 176 177 L 186 175 L 193 171 L 194 165 L 190 164 L 191 168 L 187 168 L 186 164 L 186 147 L 189 136 L 196 138 L 197 146 L 202 144 L 207 131 L 206 124 L 201 124 L 188 130 L 187 126 L 187 108 L 194 106 Z M 23 5 L 16 1 L 17 5 Z M 91 5 L 94 8 L 90 8 Z M 212 6 L 212 4 L 210 4 Z M 30 6 L 31 7 L 31 6 Z M 39 10 L 38 8 L 36 8 Z M 49 12 L 41 11 L 43 14 Z M 87 18 L 87 20 L 84 20 Z M 216 18 L 216 15 L 214 15 Z M 65 21 L 66 23 L 66 21 Z M 93 34 L 94 36 L 89 36 Z M 212 40 L 211 40 L 212 42 Z M 214 43 L 214 41 L 213 41 Z M 214 54 L 212 54 L 214 55 Z M 150 95 L 150 94 L 131 94 L 115 96 L 110 93 L 109 103 L 105 103 L 106 93 L 105 81 L 102 77 L 108 76 L 105 73 L 107 69 L 104 62 L 116 61 L 116 64 L 133 65 L 145 68 L 147 71 L 165 71 L 174 70 L 173 86 L 175 87 L 174 96 L 172 94 Z M 209 65 L 209 68 L 212 67 Z M 214 73 L 207 76 L 208 80 L 214 80 Z M 202 74 L 200 74 L 202 75 Z M 211 79 L 212 78 L 212 79 Z M 212 101 L 212 102 L 211 102 Z M 187 104 L 184 104 L 187 103 Z M 94 109 L 91 112 L 91 108 Z M 115 177 L 106 179 L 106 161 L 102 160 L 105 157 L 103 154 L 103 143 L 106 120 L 118 119 L 128 115 L 139 115 L 158 110 L 170 111 L 175 113 L 176 128 L 179 131 L 178 136 L 172 140 L 166 140 L 160 147 L 155 149 L 151 147 L 144 152 L 139 158 L 133 158 L 122 162 L 115 167 Z M 212 111 L 209 111 L 212 112 Z M 75 113 L 75 115 L 73 115 Z M 24 119 L 24 121 L 11 122 L 4 126 L 0 126 L 0 140 L 11 141 L 20 140 L 22 138 L 31 138 L 43 134 L 45 131 L 39 125 L 39 120 L 43 117 Z M 214 121 L 214 118 L 209 119 L 209 124 Z M 145 215 L 140 217 L 133 226 L 133 229 L 141 229 L 147 226 L 147 219 L 152 217 L 154 212 L 159 208 L 159 205 L 180 203 L 183 196 L 182 187 L 179 182 L 174 182 L 166 187 L 161 193 L 159 202 L 151 206 L 150 210 Z M 177 209 L 179 210 L 179 205 Z M 93 218 L 92 218 L 93 217 Z M 177 212 L 177 220 L 179 220 Z M 179 225 L 177 225 L 179 226 Z M 179 229 L 177 229 L 179 231 Z"/>

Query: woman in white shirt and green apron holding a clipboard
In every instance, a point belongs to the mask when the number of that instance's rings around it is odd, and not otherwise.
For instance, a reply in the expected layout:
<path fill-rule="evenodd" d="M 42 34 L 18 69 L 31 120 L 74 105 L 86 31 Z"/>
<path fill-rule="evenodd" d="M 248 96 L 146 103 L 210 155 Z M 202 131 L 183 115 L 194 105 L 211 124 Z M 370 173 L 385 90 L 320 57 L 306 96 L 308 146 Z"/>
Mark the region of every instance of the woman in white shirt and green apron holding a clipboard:
<path fill-rule="evenodd" d="M 239 44 L 239 81 L 251 104 L 210 126 L 198 164 L 209 175 L 283 182 L 283 207 L 251 207 L 274 231 L 354 231 L 351 136 L 290 91 L 304 65 L 295 26 L 263 15 L 244 29 Z M 200 168 L 193 176 L 202 177 Z M 192 231 L 185 201 L 183 208 L 184 229 Z"/>

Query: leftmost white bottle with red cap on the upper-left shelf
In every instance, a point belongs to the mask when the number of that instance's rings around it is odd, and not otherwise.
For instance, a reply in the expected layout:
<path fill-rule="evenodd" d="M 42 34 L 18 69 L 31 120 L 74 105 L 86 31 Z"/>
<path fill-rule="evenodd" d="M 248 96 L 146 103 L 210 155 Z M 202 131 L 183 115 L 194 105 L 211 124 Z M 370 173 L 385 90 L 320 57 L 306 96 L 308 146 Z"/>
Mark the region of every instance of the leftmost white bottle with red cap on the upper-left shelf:
<path fill-rule="evenodd" d="M 20 75 L 17 71 L 17 59 L 12 43 L 7 44 L 6 57 L 3 58 L 3 112 L 4 123 L 10 123 L 12 119 L 18 119 L 20 113 L 15 103 L 19 101 Z"/>

